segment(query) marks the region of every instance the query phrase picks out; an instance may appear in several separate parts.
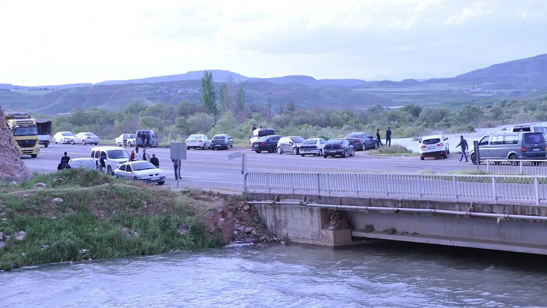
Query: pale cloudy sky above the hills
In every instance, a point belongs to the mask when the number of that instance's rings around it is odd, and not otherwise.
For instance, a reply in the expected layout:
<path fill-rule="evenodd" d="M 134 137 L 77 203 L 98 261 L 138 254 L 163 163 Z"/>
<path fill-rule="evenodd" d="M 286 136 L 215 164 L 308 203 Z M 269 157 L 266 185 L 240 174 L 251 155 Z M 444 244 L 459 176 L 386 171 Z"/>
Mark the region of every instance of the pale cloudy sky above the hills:
<path fill-rule="evenodd" d="M 0 83 L 453 77 L 547 53 L 546 28 L 547 0 L 2 1 Z"/>

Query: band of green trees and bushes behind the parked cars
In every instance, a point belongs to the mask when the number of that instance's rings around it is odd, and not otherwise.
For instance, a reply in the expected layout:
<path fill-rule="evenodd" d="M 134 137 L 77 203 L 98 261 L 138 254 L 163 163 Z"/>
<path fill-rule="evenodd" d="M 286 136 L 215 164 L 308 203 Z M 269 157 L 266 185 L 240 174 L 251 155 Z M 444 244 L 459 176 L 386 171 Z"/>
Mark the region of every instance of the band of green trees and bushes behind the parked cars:
<path fill-rule="evenodd" d="M 382 138 L 391 126 L 393 138 L 421 137 L 430 133 L 465 133 L 475 127 L 494 127 L 508 123 L 547 120 L 547 98 L 535 101 L 497 101 L 483 106 L 464 104 L 457 109 L 450 105 L 418 106 L 408 104 L 386 109 L 375 105 L 366 109 L 334 108 L 301 109 L 297 103 L 249 104 L 243 87 L 220 84 L 220 95 L 214 92 L 212 76 L 206 74 L 201 83 L 199 102 L 184 100 L 175 107 L 170 103 L 131 102 L 123 111 L 108 112 L 90 108 L 68 116 L 57 116 L 54 131 L 92 131 L 104 140 L 113 140 L 124 131 L 152 129 L 160 142 L 183 141 L 192 133 L 228 133 L 242 144 L 251 135 L 253 124 L 274 127 L 280 135 L 302 137 L 343 137 L 353 131 L 375 134 Z"/>

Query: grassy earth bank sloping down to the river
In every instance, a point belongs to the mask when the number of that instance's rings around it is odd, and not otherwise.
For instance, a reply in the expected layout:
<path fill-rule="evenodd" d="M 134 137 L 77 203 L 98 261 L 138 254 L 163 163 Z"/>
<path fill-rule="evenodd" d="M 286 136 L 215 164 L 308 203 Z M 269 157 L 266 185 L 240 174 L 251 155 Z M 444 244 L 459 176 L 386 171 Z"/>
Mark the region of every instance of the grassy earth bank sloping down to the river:
<path fill-rule="evenodd" d="M 36 183 L 46 187 L 34 189 Z M 96 171 L 37 173 L 18 185 L 0 185 L 0 231 L 11 235 L 0 248 L 0 269 L 218 247 L 220 240 L 199 219 L 216 208 L 211 200 L 217 199 L 200 201 L 195 193 L 121 182 Z M 188 233 L 179 234 L 177 226 Z M 14 240 L 18 231 L 26 232 L 24 240 Z"/>

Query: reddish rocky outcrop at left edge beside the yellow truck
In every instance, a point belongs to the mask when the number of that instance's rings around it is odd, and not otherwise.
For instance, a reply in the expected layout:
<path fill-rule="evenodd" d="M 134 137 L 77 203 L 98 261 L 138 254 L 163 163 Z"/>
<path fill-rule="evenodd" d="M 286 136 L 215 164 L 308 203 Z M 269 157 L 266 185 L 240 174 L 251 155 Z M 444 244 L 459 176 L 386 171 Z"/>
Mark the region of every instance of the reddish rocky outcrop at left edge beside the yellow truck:
<path fill-rule="evenodd" d="M 0 106 L 0 180 L 14 181 L 32 178 L 32 172 L 28 170 L 25 163 L 21 160 L 19 149 L 11 137 L 8 126 L 5 125 L 4 112 Z"/>

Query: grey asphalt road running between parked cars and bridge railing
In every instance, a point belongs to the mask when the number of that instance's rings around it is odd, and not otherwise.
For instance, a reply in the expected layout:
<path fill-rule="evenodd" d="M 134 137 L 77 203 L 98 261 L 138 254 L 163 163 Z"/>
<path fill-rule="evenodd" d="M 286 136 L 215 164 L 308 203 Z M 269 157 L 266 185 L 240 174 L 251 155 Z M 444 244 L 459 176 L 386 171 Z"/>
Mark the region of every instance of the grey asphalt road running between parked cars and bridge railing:
<path fill-rule="evenodd" d="M 52 172 L 68 152 L 71 158 L 89 157 L 94 146 L 76 144 L 50 144 L 42 147 L 37 158 L 23 156 L 23 161 L 31 171 Z M 127 148 L 130 151 L 130 148 Z M 149 149 L 150 154 L 156 154 L 160 160 L 160 168 L 167 176 L 166 185 L 177 187 L 174 179 L 173 165 L 170 159 L 170 149 Z M 452 170 L 476 168 L 471 162 L 458 161 L 459 154 L 450 154 L 448 159 L 420 160 L 419 157 L 380 157 L 369 156 L 365 152 L 356 152 L 353 157 L 327 158 L 320 156 L 305 156 L 277 153 L 252 152 L 248 148 L 231 148 L 229 150 L 189 150 L 188 159 L 182 162 L 182 180 L 179 187 L 191 187 L 219 190 L 243 190 L 241 160 L 228 160 L 228 154 L 246 152 L 247 171 L 281 171 L 281 172 L 401 172 L 413 173 L 421 170 L 433 170 L 436 173 Z M 484 168 L 484 166 L 482 166 Z"/>

